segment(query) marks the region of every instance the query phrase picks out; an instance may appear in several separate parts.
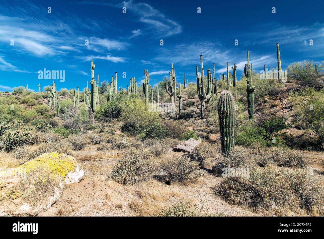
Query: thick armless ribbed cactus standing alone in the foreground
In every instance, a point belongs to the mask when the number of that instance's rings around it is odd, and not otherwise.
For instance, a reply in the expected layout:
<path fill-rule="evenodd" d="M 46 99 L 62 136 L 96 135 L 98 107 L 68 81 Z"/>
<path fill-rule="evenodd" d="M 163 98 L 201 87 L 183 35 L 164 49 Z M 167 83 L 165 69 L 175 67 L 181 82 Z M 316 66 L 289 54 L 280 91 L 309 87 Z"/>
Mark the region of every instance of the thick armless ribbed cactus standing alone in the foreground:
<path fill-rule="evenodd" d="M 220 122 L 222 152 L 223 155 L 226 155 L 234 148 L 235 110 L 234 98 L 231 92 L 225 90 L 220 94 L 217 111 Z"/>

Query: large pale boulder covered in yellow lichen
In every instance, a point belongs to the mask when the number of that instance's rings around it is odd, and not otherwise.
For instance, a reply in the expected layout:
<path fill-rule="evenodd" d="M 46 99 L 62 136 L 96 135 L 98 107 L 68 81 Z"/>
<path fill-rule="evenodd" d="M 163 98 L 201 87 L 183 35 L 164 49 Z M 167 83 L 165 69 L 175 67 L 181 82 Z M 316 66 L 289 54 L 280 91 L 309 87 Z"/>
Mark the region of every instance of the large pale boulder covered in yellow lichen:
<path fill-rule="evenodd" d="M 57 152 L 0 171 L 0 216 L 38 215 L 60 198 L 66 184 L 84 176 L 74 157 Z"/>

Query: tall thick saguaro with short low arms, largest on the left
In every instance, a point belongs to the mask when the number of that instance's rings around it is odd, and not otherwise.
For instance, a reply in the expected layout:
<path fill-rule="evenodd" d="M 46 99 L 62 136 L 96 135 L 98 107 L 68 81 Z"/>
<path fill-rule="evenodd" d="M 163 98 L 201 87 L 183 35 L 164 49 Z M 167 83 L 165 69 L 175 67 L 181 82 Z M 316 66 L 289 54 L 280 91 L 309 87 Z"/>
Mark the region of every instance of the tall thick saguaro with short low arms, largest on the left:
<path fill-rule="evenodd" d="M 88 84 L 87 84 L 87 88 L 83 89 L 86 105 L 89 108 L 89 122 L 90 122 L 90 124 L 93 124 L 93 122 L 94 122 L 95 111 L 96 111 L 96 106 L 97 106 L 97 99 L 98 99 L 97 82 L 94 77 L 94 69 L 95 69 L 95 64 L 93 64 L 93 61 L 91 61 L 91 81 L 90 81 L 91 92 L 88 89 Z M 117 72 L 116 72 L 116 77 L 117 77 Z M 88 98 L 89 94 L 90 94 L 90 101 Z"/>

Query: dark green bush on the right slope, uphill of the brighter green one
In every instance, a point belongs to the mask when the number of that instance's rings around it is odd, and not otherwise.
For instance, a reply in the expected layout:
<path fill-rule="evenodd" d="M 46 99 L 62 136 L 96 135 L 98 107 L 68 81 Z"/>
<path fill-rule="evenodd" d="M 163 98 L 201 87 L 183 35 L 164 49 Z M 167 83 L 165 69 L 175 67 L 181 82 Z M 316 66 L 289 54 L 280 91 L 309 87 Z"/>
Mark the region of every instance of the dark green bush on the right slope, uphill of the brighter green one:
<path fill-rule="evenodd" d="M 281 131 L 290 125 L 286 124 L 287 118 L 284 116 L 265 116 L 261 115 L 256 120 L 256 125 L 263 128 L 269 135 Z"/>

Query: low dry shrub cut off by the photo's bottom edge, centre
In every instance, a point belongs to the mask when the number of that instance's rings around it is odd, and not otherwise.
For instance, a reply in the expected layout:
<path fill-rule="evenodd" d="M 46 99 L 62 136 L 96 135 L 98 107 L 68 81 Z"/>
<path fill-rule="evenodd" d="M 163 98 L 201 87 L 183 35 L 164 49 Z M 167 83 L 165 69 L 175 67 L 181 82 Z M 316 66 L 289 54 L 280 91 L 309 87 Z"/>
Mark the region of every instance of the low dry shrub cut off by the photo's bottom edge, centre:
<path fill-rule="evenodd" d="M 159 214 L 160 217 L 197 217 L 199 213 L 187 202 L 178 202 L 172 206 L 163 208 Z"/>

